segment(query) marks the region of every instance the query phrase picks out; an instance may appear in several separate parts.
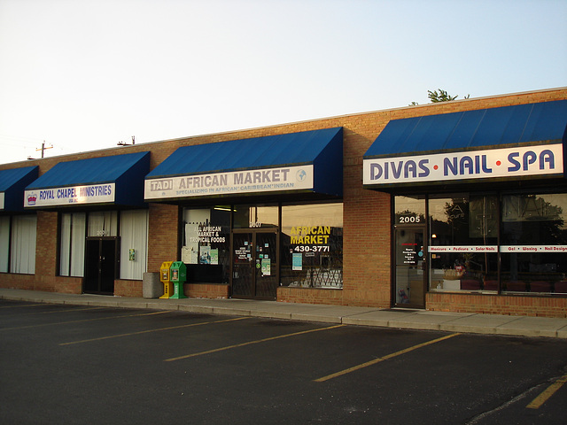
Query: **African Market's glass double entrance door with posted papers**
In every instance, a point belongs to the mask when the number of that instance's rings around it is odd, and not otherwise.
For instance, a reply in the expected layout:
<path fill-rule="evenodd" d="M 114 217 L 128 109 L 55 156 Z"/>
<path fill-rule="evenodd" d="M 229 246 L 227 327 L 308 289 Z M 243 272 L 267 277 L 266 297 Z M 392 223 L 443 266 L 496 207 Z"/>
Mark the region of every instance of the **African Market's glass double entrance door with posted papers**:
<path fill-rule="evenodd" d="M 232 297 L 276 299 L 277 233 L 246 229 L 232 235 Z"/>

